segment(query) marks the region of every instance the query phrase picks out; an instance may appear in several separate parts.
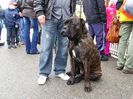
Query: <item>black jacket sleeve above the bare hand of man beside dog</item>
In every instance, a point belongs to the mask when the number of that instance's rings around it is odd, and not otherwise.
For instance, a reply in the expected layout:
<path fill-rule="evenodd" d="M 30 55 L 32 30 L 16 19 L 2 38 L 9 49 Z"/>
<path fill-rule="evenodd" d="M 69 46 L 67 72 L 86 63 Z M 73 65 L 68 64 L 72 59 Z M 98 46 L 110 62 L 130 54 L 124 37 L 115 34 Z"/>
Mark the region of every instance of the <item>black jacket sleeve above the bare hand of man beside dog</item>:
<path fill-rule="evenodd" d="M 34 0 L 33 7 L 34 11 L 37 14 L 37 17 L 40 15 L 44 15 L 44 5 L 45 5 L 45 0 Z"/>

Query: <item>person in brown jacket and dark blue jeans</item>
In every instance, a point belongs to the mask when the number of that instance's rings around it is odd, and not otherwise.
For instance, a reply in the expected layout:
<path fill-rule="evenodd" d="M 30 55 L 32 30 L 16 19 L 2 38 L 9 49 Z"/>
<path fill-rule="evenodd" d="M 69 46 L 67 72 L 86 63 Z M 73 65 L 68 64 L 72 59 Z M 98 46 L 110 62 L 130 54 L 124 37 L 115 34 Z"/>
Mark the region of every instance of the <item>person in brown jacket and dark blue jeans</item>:
<path fill-rule="evenodd" d="M 39 28 L 36 13 L 33 10 L 33 1 L 34 0 L 16 0 L 24 19 L 24 39 L 27 54 L 39 54 L 37 49 Z M 30 40 L 31 27 L 33 28 L 32 40 Z"/>

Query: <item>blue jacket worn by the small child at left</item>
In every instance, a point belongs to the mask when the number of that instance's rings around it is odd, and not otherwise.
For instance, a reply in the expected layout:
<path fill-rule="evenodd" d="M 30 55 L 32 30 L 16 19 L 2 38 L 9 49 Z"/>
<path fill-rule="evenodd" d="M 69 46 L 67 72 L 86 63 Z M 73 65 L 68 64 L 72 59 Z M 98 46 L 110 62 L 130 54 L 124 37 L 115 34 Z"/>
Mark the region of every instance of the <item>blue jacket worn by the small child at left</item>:
<path fill-rule="evenodd" d="M 15 27 L 15 21 L 20 18 L 18 9 L 6 9 L 4 10 L 4 24 L 6 28 Z"/>

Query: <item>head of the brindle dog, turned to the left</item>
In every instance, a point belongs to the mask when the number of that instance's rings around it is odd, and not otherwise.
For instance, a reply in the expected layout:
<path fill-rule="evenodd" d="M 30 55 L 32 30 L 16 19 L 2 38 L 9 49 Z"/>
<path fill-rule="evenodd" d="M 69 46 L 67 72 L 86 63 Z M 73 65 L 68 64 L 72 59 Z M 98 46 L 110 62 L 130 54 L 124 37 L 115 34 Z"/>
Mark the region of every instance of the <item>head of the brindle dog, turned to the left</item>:
<path fill-rule="evenodd" d="M 64 22 L 61 34 L 68 37 L 69 40 L 74 40 L 80 39 L 80 37 L 86 35 L 87 32 L 85 21 L 74 16 Z"/>

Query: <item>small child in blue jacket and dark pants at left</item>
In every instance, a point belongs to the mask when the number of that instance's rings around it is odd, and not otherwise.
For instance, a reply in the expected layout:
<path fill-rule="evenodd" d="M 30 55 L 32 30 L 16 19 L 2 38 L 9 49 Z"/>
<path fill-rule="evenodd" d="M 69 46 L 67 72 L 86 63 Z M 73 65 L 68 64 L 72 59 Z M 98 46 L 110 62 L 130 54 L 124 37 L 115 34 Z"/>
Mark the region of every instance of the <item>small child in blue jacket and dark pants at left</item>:
<path fill-rule="evenodd" d="M 4 11 L 4 23 L 7 29 L 7 45 L 9 49 L 16 48 L 15 18 L 19 18 L 17 6 L 14 2 L 10 2 L 8 8 Z"/>

